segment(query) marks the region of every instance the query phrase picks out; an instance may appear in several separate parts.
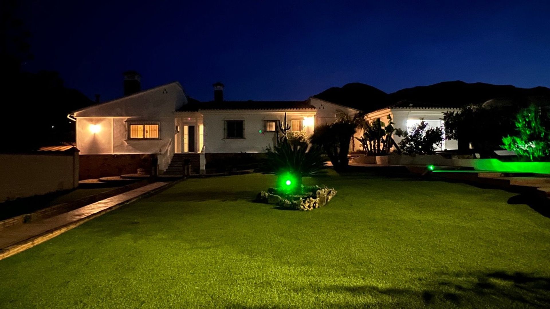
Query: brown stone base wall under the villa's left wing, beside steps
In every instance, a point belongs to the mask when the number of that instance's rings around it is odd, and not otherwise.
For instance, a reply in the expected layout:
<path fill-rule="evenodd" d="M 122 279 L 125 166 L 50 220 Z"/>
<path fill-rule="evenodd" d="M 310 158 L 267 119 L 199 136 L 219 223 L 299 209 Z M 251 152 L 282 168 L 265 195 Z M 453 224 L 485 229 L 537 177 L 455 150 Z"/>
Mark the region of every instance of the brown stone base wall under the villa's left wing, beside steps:
<path fill-rule="evenodd" d="M 156 154 L 80 154 L 79 179 L 95 179 L 153 170 Z"/>

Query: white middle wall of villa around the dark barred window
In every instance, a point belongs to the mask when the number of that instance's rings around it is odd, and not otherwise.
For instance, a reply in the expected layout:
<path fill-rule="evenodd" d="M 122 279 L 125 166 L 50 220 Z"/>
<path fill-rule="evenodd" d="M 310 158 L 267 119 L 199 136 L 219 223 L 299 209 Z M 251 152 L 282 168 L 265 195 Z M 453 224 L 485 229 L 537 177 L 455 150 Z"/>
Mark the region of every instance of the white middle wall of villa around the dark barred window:
<path fill-rule="evenodd" d="M 284 112 L 272 111 L 202 111 L 204 121 L 204 143 L 207 153 L 232 152 L 265 152 L 268 146 L 276 143 L 273 132 L 259 133 L 263 130 L 263 120 L 280 120 Z M 315 111 L 287 112 L 287 123 L 290 120 L 303 120 L 314 117 Z M 225 139 L 224 121 L 244 120 L 244 139 Z M 313 133 L 313 126 L 304 128 L 307 134 Z"/>

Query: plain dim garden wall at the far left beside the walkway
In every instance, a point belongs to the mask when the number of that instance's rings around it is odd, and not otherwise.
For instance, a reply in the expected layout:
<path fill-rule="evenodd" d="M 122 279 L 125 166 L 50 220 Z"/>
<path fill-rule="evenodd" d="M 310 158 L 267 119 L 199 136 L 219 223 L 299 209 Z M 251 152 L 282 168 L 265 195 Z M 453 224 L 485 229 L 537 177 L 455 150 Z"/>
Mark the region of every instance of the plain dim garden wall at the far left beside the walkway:
<path fill-rule="evenodd" d="M 0 153 L 0 202 L 78 186 L 78 151 Z"/>

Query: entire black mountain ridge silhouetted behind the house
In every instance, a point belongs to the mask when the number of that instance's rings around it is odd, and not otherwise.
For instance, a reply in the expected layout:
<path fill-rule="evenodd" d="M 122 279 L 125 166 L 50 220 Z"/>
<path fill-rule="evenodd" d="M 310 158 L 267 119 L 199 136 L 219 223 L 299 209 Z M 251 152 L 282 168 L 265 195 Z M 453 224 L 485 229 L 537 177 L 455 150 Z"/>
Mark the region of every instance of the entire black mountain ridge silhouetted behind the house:
<path fill-rule="evenodd" d="M 529 103 L 550 105 L 550 89 L 547 87 L 527 89 L 484 82 L 470 84 L 464 81 L 444 81 L 429 86 L 406 88 L 389 95 L 373 86 L 353 82 L 343 87 L 331 87 L 313 97 L 365 112 L 389 106 L 461 107 L 492 99 L 504 99 L 518 105 Z"/>

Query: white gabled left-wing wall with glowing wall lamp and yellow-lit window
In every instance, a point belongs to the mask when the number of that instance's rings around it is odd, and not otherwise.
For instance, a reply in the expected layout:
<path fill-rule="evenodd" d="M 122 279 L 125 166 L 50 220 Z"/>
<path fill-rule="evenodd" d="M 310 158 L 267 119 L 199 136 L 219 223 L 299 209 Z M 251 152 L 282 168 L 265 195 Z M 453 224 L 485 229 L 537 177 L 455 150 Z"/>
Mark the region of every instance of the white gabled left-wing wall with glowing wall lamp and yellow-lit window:
<path fill-rule="evenodd" d="M 157 153 L 161 169 L 174 153 L 173 112 L 186 103 L 177 82 L 75 112 L 76 147 L 81 154 Z M 128 122 L 158 122 L 158 140 L 129 140 Z M 90 125 L 99 125 L 92 133 Z"/>

